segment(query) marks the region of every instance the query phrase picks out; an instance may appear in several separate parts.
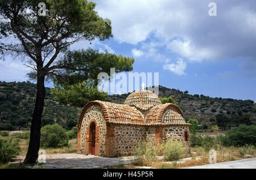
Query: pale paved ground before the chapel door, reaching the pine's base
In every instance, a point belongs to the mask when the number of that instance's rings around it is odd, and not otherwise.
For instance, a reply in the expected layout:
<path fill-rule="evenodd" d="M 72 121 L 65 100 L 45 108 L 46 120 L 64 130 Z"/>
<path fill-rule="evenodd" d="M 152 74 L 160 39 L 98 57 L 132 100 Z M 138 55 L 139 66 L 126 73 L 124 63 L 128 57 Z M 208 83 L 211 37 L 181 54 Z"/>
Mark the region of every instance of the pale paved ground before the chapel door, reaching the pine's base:
<path fill-rule="evenodd" d="M 17 156 L 15 162 L 23 162 L 25 156 Z M 28 168 L 105 168 L 114 165 L 127 165 L 133 160 L 133 156 L 127 157 L 98 157 L 93 155 L 80 155 L 75 153 L 46 155 L 46 164 L 39 166 L 28 166 Z"/>

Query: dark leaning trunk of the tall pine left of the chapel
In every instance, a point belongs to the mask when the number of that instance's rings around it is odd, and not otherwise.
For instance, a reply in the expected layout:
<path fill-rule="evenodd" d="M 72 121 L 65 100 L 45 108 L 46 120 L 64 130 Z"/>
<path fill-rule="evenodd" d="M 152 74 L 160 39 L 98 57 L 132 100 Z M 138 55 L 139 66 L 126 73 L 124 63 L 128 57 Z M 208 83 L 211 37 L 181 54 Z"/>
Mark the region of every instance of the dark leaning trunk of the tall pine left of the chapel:
<path fill-rule="evenodd" d="M 45 75 L 38 71 L 37 77 L 37 92 L 36 103 L 32 117 L 30 128 L 30 143 L 24 164 L 34 164 L 38 159 L 38 151 L 40 148 L 40 135 L 41 135 L 41 117 L 44 108 L 44 97 L 46 96 L 46 88 L 44 87 Z"/>

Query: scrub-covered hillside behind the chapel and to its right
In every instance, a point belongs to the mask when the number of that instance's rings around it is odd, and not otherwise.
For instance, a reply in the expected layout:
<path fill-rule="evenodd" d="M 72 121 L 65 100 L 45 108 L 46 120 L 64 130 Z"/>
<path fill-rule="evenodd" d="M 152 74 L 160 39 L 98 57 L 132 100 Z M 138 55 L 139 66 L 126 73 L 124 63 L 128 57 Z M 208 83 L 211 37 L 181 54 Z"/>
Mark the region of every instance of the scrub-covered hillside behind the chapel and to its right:
<path fill-rule="evenodd" d="M 109 101 L 123 104 L 125 98 L 130 93 L 123 95 L 111 95 Z M 256 118 L 256 104 L 251 100 L 234 100 L 232 98 L 209 97 L 204 95 L 189 95 L 187 91 L 182 92 L 177 89 L 169 89 L 159 85 L 159 96 L 169 97 L 174 95 L 174 100 L 178 102 L 183 110 L 184 118 L 198 119 L 200 123 L 208 123 L 217 114 L 225 114 L 232 118 L 241 115 L 250 115 L 250 118 Z"/>

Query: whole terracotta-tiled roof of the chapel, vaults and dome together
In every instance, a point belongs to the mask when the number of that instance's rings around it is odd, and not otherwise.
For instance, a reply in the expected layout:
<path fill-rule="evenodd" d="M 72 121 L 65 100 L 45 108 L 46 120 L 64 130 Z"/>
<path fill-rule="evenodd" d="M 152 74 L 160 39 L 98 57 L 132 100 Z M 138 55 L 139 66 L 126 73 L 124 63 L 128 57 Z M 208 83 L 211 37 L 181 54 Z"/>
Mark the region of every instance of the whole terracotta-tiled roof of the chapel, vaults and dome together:
<path fill-rule="evenodd" d="M 131 93 L 126 98 L 125 104 L 105 101 L 88 102 L 82 110 L 77 126 L 80 127 L 86 109 L 91 105 L 99 105 L 101 107 L 106 122 L 134 123 L 139 125 L 190 125 L 185 123 L 183 114 L 176 105 L 171 103 L 162 104 L 155 93 L 147 90 Z M 144 117 L 140 110 L 149 111 Z"/>

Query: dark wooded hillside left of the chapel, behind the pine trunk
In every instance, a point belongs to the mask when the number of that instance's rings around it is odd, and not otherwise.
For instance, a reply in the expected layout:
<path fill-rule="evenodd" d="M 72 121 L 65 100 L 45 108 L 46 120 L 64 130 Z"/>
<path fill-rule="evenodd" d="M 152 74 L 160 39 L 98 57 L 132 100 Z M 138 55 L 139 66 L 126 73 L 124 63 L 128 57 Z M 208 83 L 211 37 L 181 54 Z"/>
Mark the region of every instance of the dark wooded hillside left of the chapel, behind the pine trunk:
<path fill-rule="evenodd" d="M 35 105 L 36 84 L 30 82 L 0 82 L 0 122 L 13 126 L 30 125 Z M 81 109 L 61 105 L 53 100 L 46 88 L 46 100 L 42 115 L 42 126 L 59 123 L 69 129 L 77 125 Z"/>

